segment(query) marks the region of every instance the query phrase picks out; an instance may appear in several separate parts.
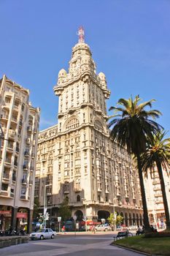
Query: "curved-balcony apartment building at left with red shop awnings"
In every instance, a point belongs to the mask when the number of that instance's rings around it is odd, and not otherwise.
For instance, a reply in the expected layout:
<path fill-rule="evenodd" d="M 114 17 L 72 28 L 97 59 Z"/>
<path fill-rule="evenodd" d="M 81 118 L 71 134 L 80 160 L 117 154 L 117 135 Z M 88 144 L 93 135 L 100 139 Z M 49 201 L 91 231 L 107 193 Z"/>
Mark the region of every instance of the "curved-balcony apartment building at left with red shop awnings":
<path fill-rule="evenodd" d="M 29 91 L 0 80 L 0 230 L 31 227 L 34 208 L 39 108 L 31 106 Z"/>

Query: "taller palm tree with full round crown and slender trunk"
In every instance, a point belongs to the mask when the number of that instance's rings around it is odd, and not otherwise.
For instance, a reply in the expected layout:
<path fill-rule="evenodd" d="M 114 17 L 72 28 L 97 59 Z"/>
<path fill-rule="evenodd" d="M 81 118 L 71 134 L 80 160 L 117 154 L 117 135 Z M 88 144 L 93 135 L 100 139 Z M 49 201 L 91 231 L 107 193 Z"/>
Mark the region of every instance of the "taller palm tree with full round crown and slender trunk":
<path fill-rule="evenodd" d="M 146 232 L 149 232 L 150 222 L 142 176 L 141 154 L 146 151 L 147 138 L 152 139 L 153 135 L 160 130 L 159 124 L 151 119 L 158 118 L 161 112 L 158 110 L 145 110 L 146 107 L 152 108 L 152 102 L 155 99 L 139 104 L 141 100 L 139 95 L 134 100 L 132 97 L 130 99 L 119 99 L 117 105 L 120 105 L 120 107 L 109 108 L 109 110 L 114 110 L 115 114 L 109 117 L 112 120 L 109 122 L 108 127 L 113 127 L 110 136 L 120 146 L 127 148 L 129 154 L 134 154 L 136 157 L 144 211 L 144 227 Z"/>

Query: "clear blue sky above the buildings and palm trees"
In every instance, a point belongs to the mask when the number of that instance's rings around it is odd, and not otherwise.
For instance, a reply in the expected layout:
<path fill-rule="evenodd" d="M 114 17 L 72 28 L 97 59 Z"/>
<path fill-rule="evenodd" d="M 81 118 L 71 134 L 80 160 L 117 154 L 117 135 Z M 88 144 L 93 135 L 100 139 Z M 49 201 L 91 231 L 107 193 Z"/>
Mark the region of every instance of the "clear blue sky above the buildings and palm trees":
<path fill-rule="evenodd" d="M 56 124 L 53 86 L 82 25 L 112 91 L 107 107 L 131 94 L 156 99 L 158 122 L 169 130 L 169 13 L 169 0 L 0 0 L 0 76 L 30 89 L 42 110 L 40 129 Z"/>

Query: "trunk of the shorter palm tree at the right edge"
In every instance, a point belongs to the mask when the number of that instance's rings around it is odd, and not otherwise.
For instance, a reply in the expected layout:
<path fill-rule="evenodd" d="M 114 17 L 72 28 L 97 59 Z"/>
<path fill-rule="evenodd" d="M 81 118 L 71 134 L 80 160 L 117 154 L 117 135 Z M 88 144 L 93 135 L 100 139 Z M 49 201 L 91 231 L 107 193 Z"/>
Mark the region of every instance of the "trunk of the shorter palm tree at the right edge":
<path fill-rule="evenodd" d="M 166 229 L 170 230 L 169 205 L 168 205 L 168 201 L 167 201 L 167 197 L 166 197 L 166 187 L 165 187 L 164 178 L 163 178 L 162 165 L 160 162 L 157 161 L 156 166 L 158 168 L 158 174 L 159 174 L 159 179 L 160 179 L 160 183 L 161 183 L 163 206 L 165 209 L 165 216 L 166 216 Z"/>

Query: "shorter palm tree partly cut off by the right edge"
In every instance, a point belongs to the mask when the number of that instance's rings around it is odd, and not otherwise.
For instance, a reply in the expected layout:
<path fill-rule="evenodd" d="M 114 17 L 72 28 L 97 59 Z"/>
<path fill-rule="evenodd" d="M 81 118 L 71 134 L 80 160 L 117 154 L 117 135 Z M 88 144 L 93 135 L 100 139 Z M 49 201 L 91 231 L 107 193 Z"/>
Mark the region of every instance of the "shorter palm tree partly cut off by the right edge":
<path fill-rule="evenodd" d="M 169 206 L 166 197 L 166 187 L 163 178 L 163 169 L 169 171 L 170 160 L 170 138 L 165 139 L 166 132 L 160 131 L 153 140 L 147 143 L 147 151 L 142 154 L 142 169 L 147 172 L 148 168 L 152 171 L 156 164 L 161 183 L 163 195 L 163 205 L 166 216 L 166 228 L 170 230 Z"/>

